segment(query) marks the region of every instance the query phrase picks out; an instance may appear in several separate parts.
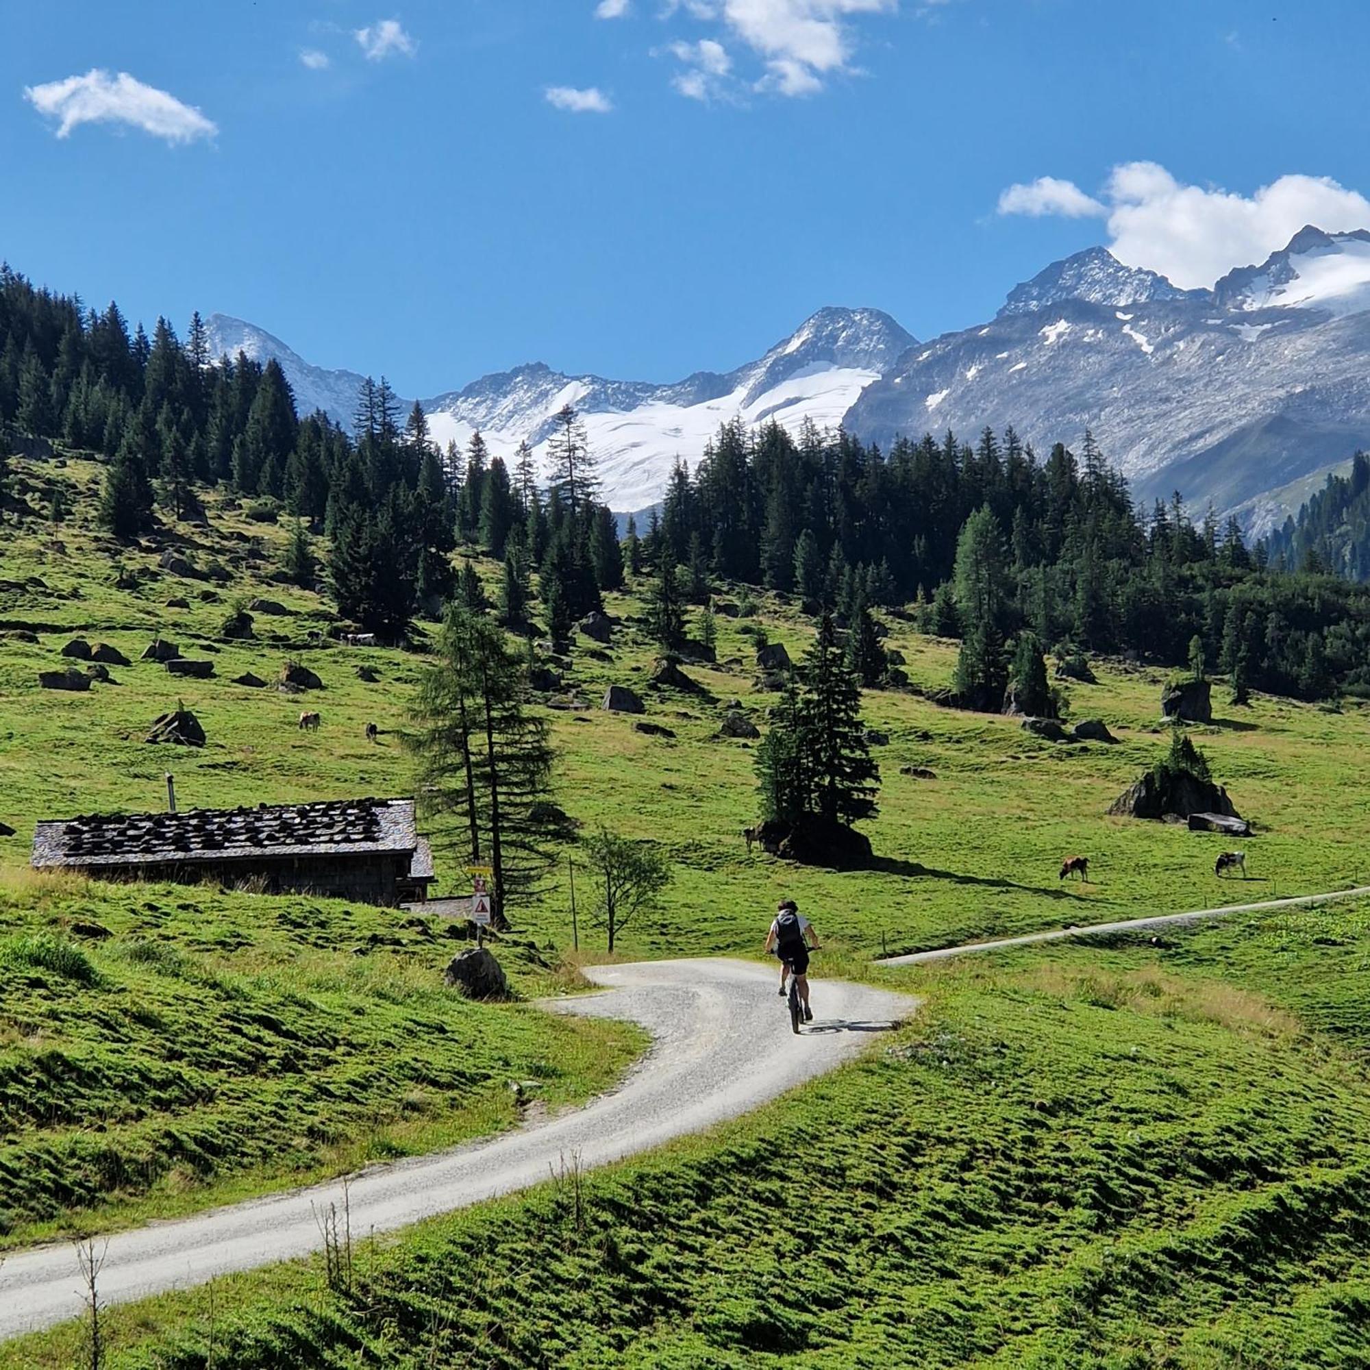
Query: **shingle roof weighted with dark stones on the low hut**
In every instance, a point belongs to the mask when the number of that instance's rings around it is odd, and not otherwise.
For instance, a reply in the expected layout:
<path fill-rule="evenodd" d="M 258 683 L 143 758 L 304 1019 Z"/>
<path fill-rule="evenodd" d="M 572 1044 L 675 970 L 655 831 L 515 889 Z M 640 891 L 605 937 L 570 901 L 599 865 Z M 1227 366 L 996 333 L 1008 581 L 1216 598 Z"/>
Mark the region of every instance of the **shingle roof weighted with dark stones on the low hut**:
<path fill-rule="evenodd" d="M 33 864 L 96 869 L 263 856 L 416 854 L 419 841 L 412 799 L 89 814 L 38 823 Z M 432 867 L 432 855 L 427 864 Z"/>

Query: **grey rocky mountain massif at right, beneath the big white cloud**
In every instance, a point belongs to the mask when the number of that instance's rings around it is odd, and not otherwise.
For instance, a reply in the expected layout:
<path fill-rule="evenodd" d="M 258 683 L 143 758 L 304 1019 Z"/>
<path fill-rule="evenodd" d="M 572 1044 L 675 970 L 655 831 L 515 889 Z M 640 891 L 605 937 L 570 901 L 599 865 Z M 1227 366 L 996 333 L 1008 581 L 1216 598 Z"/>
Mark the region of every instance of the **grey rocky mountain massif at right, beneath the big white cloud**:
<path fill-rule="evenodd" d="M 1270 492 L 1370 444 L 1370 233 L 1306 227 L 1212 290 L 1078 253 L 991 323 L 911 349 L 845 423 L 885 447 L 1012 423 L 1041 448 L 1091 427 L 1140 500 L 1178 489 L 1260 532 L 1286 512 Z"/>

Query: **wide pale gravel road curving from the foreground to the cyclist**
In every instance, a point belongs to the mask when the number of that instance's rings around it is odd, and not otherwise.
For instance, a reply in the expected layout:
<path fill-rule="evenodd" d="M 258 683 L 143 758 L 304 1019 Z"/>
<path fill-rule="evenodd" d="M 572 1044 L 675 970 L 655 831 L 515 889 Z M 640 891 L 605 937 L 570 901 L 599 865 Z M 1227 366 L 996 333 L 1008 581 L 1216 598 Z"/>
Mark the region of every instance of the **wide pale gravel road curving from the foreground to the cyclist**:
<path fill-rule="evenodd" d="M 604 993 L 558 1000 L 559 1012 L 625 1018 L 653 1037 L 612 1093 L 536 1126 L 459 1151 L 377 1166 L 352 1177 L 355 1236 L 536 1185 L 563 1160 L 603 1166 L 736 1118 L 833 1070 L 917 1001 L 864 985 L 815 980 L 811 1025 L 790 1032 L 777 971 L 738 960 L 659 960 L 586 970 Z M 193 1218 L 118 1233 L 104 1249 L 100 1297 L 122 1303 L 214 1275 L 304 1256 L 322 1247 L 318 1218 L 342 1204 L 341 1184 L 296 1189 Z M 0 1337 L 77 1317 L 81 1289 L 70 1245 L 0 1265 Z"/>

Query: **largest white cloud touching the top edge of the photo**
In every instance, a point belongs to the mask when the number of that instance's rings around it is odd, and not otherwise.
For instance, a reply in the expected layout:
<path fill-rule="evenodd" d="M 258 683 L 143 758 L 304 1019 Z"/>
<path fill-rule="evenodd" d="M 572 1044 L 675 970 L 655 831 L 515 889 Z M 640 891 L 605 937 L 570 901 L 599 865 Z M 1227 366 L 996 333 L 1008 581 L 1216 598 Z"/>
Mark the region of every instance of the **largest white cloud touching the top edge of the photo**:
<path fill-rule="evenodd" d="M 723 23 L 764 60 L 758 89 L 800 96 L 821 90 L 826 77 L 852 70 L 851 18 L 897 8 L 899 0 L 667 0 L 666 14 L 684 10 Z"/>

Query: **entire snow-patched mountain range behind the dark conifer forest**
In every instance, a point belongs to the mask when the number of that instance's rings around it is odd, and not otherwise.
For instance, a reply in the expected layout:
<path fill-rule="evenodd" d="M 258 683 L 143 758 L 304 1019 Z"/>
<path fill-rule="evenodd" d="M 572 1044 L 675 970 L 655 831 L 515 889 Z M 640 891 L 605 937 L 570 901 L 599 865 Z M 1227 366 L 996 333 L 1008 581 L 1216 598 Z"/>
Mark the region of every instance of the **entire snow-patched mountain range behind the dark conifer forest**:
<path fill-rule="evenodd" d="M 351 425 L 362 377 L 311 366 L 279 338 L 214 315 L 215 355 L 275 356 L 297 406 Z M 407 401 L 406 401 L 407 403 Z M 671 385 L 564 375 L 541 363 L 425 400 L 433 436 L 477 429 L 510 456 L 545 452 L 574 404 L 614 508 L 655 503 L 677 456 L 719 423 L 806 419 L 886 448 L 923 433 L 1012 425 L 1038 449 L 1091 427 L 1143 503 L 1180 490 L 1255 532 L 1321 473 L 1370 447 L 1370 232 L 1302 229 L 1259 266 L 1182 290 L 1104 248 L 1015 286 L 985 325 L 917 344 L 878 310 L 821 310 L 763 358 Z"/>

